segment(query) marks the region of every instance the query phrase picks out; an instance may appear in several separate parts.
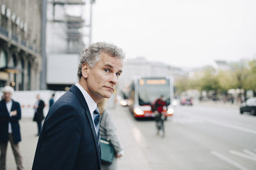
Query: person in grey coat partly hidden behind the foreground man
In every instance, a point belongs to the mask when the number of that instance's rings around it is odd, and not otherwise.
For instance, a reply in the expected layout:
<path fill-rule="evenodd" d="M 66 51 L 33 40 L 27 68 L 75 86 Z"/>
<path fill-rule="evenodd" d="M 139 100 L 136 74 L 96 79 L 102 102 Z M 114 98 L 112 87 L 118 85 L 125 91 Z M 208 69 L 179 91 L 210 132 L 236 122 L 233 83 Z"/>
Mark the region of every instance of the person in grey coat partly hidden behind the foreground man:
<path fill-rule="evenodd" d="M 120 158 L 124 155 L 124 150 L 122 149 L 120 142 L 116 136 L 116 128 L 109 114 L 108 110 L 105 110 L 105 99 L 100 100 L 97 103 L 97 106 L 100 111 L 100 138 L 109 139 L 109 142 L 114 148 L 115 157 L 112 164 L 107 165 L 101 163 L 102 170 L 117 170 L 117 158 Z"/>

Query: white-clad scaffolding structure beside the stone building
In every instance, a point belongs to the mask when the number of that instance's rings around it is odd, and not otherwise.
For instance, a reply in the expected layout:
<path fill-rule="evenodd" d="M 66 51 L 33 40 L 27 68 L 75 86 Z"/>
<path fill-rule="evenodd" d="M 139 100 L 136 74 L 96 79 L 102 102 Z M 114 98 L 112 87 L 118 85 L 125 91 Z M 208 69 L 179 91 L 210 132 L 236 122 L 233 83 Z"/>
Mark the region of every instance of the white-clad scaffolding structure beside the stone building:
<path fill-rule="evenodd" d="M 46 83 L 49 90 L 67 90 L 77 81 L 79 56 L 85 47 L 85 1 L 47 1 Z"/>

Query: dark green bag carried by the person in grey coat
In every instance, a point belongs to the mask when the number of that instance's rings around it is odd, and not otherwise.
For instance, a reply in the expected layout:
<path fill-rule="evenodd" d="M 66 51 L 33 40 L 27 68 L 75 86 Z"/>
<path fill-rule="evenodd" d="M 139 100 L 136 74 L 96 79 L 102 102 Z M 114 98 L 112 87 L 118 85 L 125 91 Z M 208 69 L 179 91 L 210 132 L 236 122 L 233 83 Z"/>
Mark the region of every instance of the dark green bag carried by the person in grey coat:
<path fill-rule="evenodd" d="M 100 138 L 101 162 L 103 164 L 112 164 L 114 159 L 114 148 L 109 139 Z"/>

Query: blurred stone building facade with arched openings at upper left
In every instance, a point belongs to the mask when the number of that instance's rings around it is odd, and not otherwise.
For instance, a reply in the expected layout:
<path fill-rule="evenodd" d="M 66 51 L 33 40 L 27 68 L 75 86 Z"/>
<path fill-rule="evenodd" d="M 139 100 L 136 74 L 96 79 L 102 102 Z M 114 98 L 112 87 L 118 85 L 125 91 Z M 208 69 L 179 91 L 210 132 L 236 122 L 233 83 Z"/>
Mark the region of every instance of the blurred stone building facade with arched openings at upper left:
<path fill-rule="evenodd" d="M 41 71 L 41 1 L 0 1 L 0 88 L 37 90 Z"/>

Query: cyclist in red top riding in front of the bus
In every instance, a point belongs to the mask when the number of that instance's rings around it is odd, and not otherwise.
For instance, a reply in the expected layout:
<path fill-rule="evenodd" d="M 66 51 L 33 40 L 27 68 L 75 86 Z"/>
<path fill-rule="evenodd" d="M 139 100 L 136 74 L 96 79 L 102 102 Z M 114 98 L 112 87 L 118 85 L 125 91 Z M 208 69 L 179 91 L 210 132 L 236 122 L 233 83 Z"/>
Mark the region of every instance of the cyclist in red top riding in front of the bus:
<path fill-rule="evenodd" d="M 160 136 L 164 136 L 164 106 L 166 103 L 163 100 L 163 95 L 159 97 L 159 99 L 156 99 L 153 105 L 153 110 L 156 113 L 155 114 L 155 120 L 156 120 L 156 126 L 157 126 L 157 134 L 160 134 Z"/>

